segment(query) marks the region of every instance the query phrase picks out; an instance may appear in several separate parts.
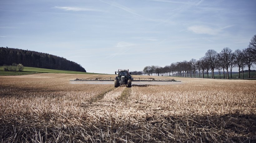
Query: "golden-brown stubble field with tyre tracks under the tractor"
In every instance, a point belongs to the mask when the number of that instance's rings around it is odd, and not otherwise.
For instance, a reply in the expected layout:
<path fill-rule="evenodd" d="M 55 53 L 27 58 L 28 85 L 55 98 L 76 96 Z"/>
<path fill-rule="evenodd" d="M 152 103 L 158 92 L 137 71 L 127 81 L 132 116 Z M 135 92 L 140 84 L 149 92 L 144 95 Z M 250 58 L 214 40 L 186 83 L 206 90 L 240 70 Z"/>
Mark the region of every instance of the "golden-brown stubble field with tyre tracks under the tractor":
<path fill-rule="evenodd" d="M 115 75 L 0 76 L 0 141 L 256 142 L 255 80 L 175 77 L 182 84 L 131 88 L 69 82 L 95 77 Z"/>

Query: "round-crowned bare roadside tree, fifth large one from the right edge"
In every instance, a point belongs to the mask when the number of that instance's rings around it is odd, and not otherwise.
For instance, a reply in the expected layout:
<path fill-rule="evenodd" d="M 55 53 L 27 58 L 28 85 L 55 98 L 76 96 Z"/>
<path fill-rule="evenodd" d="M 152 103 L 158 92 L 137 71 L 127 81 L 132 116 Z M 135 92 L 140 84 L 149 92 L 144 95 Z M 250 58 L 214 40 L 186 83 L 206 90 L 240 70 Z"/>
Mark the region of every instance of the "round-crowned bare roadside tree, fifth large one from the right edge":
<path fill-rule="evenodd" d="M 205 53 L 205 56 L 209 60 L 210 68 L 212 70 L 212 77 L 214 78 L 214 69 L 216 66 L 216 62 L 218 61 L 218 53 L 215 50 L 208 50 Z"/>

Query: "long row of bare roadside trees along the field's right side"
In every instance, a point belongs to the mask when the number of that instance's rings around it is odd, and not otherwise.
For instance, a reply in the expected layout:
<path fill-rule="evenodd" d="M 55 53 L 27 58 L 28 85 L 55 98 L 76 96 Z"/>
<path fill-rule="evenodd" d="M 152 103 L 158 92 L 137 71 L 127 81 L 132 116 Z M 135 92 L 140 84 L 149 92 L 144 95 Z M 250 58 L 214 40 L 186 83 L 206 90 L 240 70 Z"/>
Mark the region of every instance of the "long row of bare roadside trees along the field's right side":
<path fill-rule="evenodd" d="M 180 62 L 171 63 L 165 67 L 160 66 L 146 66 L 143 71 L 132 72 L 132 74 L 147 74 L 147 75 L 162 75 L 162 76 L 184 76 L 185 77 L 194 77 L 198 73 L 199 77 L 202 74 L 202 77 L 205 78 L 204 74 L 207 74 L 209 78 L 209 73 L 211 77 L 214 77 L 214 70 L 218 71 L 219 78 L 220 74 L 223 73 L 224 78 L 232 78 L 232 69 L 238 67 L 239 69 L 239 78 L 240 70 L 242 71 L 242 78 L 244 79 L 244 69 L 248 67 L 249 78 L 251 67 L 253 64 L 256 64 L 256 35 L 251 38 L 249 46 L 242 50 L 237 49 L 234 52 L 229 48 L 225 47 L 221 50 L 220 53 L 210 49 L 208 50 L 204 57 L 201 57 L 199 60 L 191 59 L 190 61 L 184 60 Z M 225 71 L 227 72 L 227 77 L 225 77 Z"/>

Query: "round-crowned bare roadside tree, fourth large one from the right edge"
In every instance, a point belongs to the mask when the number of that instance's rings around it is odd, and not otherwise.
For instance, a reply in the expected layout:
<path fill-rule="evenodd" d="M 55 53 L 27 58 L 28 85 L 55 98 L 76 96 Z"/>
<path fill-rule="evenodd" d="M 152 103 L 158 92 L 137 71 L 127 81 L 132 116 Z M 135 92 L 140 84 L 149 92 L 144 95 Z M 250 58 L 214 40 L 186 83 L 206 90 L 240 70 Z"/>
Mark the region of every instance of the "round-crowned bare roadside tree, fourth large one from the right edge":
<path fill-rule="evenodd" d="M 232 50 L 229 47 L 223 48 L 219 54 L 220 63 L 223 64 L 228 73 L 229 79 L 229 66 L 231 62 Z"/>

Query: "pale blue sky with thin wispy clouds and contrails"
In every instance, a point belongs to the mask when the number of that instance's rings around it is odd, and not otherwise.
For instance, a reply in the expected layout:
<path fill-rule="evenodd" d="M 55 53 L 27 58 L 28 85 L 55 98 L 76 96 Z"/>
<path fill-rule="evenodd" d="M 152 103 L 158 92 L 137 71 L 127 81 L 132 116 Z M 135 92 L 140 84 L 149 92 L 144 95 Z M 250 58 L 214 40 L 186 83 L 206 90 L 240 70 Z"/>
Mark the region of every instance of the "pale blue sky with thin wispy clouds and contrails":
<path fill-rule="evenodd" d="M 255 0 L 0 0 L 0 47 L 64 57 L 114 74 L 244 49 Z"/>

